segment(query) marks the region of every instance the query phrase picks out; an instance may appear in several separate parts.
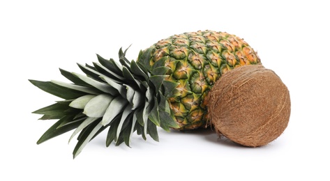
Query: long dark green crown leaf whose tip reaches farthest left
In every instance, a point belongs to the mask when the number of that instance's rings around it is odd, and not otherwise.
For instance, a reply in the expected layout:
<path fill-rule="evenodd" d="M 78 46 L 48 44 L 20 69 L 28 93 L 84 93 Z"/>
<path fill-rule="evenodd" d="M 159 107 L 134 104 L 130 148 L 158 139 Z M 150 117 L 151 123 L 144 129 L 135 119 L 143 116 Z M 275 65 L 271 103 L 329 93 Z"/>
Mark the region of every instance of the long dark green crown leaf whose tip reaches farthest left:
<path fill-rule="evenodd" d="M 36 81 L 36 80 L 29 80 L 29 81 L 31 82 L 31 84 L 37 86 L 41 90 L 50 93 L 52 95 L 55 95 L 57 97 L 61 97 L 65 100 L 75 99 L 77 97 L 86 94 L 80 91 L 74 91 L 70 88 L 59 86 L 57 84 L 52 83 L 51 81 Z"/>

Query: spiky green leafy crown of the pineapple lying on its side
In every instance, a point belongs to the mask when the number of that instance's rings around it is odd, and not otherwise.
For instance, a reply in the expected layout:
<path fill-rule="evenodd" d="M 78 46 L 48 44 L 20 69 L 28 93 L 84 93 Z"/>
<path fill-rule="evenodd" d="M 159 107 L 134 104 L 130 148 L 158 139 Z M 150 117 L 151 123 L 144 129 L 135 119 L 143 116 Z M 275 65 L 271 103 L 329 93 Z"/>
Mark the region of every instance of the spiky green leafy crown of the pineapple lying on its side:
<path fill-rule="evenodd" d="M 140 51 L 137 61 L 128 61 L 127 49 L 119 49 L 119 62 L 97 55 L 98 63 L 77 64 L 84 74 L 59 69 L 73 84 L 61 81 L 29 80 L 41 90 L 61 97 L 55 104 L 33 111 L 40 120 L 57 119 L 37 141 L 38 144 L 75 129 L 77 144 L 73 157 L 80 154 L 91 139 L 108 128 L 106 146 L 125 143 L 130 146 L 133 132 L 147 134 L 158 141 L 157 126 L 167 132 L 178 128 L 167 98 L 178 83 L 167 81 L 165 58 L 150 65 L 154 47 Z"/>

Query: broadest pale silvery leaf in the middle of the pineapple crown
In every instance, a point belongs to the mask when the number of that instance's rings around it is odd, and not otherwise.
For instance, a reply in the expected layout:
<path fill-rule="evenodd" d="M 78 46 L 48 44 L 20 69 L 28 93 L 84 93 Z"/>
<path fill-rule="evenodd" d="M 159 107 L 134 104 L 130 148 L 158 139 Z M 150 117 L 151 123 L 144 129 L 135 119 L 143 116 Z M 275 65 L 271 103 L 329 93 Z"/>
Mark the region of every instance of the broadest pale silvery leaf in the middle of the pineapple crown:
<path fill-rule="evenodd" d="M 100 94 L 93 97 L 84 107 L 84 114 L 93 118 L 103 117 L 113 99 L 114 97 L 107 94 Z"/>

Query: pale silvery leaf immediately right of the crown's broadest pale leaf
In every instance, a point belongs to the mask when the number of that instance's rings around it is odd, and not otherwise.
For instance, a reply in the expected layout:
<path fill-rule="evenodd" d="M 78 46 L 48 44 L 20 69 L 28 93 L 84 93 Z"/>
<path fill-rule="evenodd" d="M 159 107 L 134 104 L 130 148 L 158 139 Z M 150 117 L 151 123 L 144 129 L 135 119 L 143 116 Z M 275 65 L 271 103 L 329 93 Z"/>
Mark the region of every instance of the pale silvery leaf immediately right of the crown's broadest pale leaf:
<path fill-rule="evenodd" d="M 103 125 L 109 124 L 112 119 L 114 119 L 119 113 L 122 112 L 127 103 L 127 100 L 125 100 L 123 97 L 114 97 L 114 100 L 112 100 L 112 102 L 110 102 L 109 106 L 107 107 L 101 123 Z"/>

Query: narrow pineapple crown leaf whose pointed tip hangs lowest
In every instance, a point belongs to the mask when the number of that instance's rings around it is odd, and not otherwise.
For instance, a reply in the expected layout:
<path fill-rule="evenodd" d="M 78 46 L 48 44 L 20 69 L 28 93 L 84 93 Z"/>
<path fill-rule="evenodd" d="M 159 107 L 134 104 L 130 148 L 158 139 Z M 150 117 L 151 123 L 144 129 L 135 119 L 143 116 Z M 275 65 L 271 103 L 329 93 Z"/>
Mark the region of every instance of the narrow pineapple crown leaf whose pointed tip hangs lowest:
<path fill-rule="evenodd" d="M 89 126 L 88 129 L 84 132 L 84 134 L 80 137 L 77 145 L 75 145 L 75 149 L 73 150 L 73 158 L 77 157 L 77 155 L 82 152 L 82 149 L 93 139 L 93 136 L 98 132 L 98 130 L 103 127 L 101 123 L 98 123 L 95 126 Z"/>

